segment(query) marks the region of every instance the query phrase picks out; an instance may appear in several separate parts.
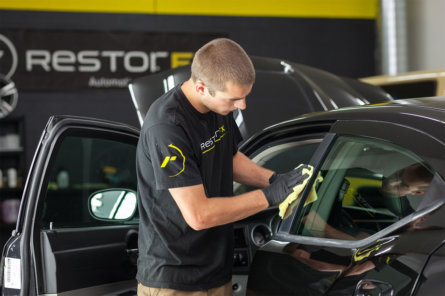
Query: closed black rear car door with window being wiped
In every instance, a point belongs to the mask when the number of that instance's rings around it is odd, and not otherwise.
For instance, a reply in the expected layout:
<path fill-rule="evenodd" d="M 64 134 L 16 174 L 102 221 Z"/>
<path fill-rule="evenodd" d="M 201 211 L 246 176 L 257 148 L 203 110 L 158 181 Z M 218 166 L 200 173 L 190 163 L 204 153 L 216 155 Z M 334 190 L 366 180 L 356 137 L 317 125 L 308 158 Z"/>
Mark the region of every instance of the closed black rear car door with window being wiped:
<path fill-rule="evenodd" d="M 409 126 L 337 121 L 255 253 L 247 295 L 411 295 L 444 240 L 444 155 L 441 140 Z"/>

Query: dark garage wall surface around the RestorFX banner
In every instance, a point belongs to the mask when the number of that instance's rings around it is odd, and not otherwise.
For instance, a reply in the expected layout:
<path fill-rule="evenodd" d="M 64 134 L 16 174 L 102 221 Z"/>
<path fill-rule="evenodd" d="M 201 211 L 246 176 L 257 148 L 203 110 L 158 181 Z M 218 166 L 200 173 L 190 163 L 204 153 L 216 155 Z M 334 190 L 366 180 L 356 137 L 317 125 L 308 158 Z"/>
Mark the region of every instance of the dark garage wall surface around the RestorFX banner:
<path fill-rule="evenodd" d="M 368 2 L 376 3 L 376 1 Z M 5 3 L 7 1 L 2 1 L 0 7 L 4 8 Z M 320 11 L 326 11 L 326 7 Z M 375 11 L 372 13 L 375 15 Z M 243 46 L 249 55 L 287 59 L 349 77 L 375 75 L 375 20 L 369 12 L 360 19 L 353 18 L 353 14 L 349 17 L 331 15 L 329 18 L 320 16 L 297 18 L 2 9 L 0 16 L 0 27 L 3 29 L 218 32 L 227 34 L 229 38 Z M 25 119 L 27 167 L 32 160 L 41 131 L 51 115 L 94 117 L 138 126 L 131 97 L 125 90 L 24 92 L 19 89 L 18 91 L 16 110 L 8 115 L 8 118 Z"/>

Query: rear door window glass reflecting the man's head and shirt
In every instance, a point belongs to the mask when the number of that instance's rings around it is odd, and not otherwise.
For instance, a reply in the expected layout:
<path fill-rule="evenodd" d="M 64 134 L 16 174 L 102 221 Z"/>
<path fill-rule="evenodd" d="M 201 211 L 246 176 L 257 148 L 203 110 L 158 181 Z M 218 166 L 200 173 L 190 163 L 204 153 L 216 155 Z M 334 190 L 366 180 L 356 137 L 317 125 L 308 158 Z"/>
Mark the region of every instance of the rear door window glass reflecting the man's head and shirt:
<path fill-rule="evenodd" d="M 291 233 L 342 240 L 369 237 L 413 213 L 434 174 L 401 146 L 340 136 L 309 185 Z"/>

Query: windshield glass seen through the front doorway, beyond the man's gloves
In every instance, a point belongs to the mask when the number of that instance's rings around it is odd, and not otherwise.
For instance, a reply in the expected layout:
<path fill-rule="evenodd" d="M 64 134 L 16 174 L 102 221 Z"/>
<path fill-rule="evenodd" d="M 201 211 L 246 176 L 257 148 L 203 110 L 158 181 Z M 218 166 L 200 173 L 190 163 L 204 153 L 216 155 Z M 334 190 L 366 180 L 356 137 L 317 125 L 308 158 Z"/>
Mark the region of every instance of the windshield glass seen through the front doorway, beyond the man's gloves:
<path fill-rule="evenodd" d="M 295 169 L 295 167 L 299 166 L 301 163 L 307 164 L 320 145 L 320 142 L 298 146 L 291 146 L 292 144 L 295 145 L 298 143 L 290 143 L 289 147 L 277 148 L 277 150 L 272 148 L 270 154 L 262 158 L 267 159 L 267 161 L 260 160 L 257 164 L 279 174 L 286 174 L 287 172 Z M 240 185 L 235 190 L 234 194 L 239 195 L 255 189 L 258 189 L 258 187 Z"/>

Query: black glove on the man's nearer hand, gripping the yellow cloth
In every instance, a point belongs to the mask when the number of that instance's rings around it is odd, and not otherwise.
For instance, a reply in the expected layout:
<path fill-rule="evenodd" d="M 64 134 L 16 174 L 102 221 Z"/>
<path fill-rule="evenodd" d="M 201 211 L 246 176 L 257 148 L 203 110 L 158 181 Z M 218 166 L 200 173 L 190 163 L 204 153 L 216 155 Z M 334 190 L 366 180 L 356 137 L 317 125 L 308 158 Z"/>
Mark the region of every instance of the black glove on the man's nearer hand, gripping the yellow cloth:
<path fill-rule="evenodd" d="M 303 182 L 307 178 L 307 174 L 301 174 L 303 169 L 310 168 L 307 165 L 303 165 L 298 169 L 291 170 L 287 174 L 280 174 L 277 178 L 275 178 L 275 180 L 272 181 L 273 183 L 271 183 L 271 185 L 261 188 L 267 201 L 269 202 L 269 207 L 282 203 L 287 196 L 291 194 L 295 185 L 299 182 Z M 272 175 L 272 177 L 274 175 Z M 271 181 L 271 178 L 269 178 L 269 182 Z"/>

